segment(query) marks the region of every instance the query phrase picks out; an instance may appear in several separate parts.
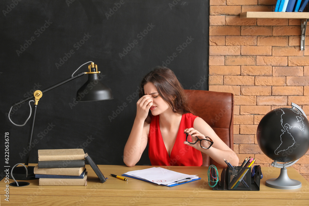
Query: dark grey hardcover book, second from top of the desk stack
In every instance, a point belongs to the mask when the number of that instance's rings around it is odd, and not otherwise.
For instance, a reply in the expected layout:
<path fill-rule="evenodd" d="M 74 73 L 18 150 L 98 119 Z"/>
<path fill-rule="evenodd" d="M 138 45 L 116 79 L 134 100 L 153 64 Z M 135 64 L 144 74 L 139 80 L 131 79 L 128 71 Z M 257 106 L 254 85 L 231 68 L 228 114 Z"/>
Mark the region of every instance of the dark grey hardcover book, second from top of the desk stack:
<path fill-rule="evenodd" d="M 84 167 L 85 160 L 39 161 L 39 168 Z"/>

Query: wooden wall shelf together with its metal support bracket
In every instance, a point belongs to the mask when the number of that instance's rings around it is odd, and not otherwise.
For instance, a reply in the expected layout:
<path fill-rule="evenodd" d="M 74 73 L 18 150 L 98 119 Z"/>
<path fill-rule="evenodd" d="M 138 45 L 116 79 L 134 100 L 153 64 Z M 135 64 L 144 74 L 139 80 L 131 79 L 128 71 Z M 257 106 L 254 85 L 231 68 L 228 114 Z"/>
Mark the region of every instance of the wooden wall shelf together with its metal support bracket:
<path fill-rule="evenodd" d="M 309 21 L 309 12 L 262 12 L 262 11 L 247 11 L 239 14 L 240 18 L 253 19 L 301 19 L 301 36 L 300 50 L 305 50 L 305 34 L 307 22 Z"/>

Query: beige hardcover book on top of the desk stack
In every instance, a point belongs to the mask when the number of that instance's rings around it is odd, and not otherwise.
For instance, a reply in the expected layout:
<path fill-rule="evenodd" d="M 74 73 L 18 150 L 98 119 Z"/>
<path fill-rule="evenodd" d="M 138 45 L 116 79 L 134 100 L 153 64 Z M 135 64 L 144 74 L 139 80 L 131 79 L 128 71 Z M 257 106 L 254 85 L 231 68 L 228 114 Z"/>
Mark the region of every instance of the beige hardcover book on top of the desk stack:
<path fill-rule="evenodd" d="M 83 160 L 83 149 L 39 149 L 39 161 Z"/>

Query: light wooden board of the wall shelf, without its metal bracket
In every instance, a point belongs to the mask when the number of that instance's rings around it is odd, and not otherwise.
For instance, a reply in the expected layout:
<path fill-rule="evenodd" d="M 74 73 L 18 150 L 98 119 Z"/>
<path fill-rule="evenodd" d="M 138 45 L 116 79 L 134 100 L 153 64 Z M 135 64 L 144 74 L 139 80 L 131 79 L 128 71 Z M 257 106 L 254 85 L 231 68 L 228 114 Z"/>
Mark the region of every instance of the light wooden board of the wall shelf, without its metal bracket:
<path fill-rule="evenodd" d="M 309 19 L 309 12 L 261 12 L 247 11 L 240 13 L 240 18 L 255 19 Z"/>

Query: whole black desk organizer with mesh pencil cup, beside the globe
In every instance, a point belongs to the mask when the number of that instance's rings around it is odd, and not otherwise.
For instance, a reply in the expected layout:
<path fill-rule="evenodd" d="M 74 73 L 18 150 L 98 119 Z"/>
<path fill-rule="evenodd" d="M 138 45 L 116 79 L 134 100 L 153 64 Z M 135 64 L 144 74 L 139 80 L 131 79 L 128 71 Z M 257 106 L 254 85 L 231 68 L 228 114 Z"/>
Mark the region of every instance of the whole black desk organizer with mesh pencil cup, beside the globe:
<path fill-rule="evenodd" d="M 211 174 L 215 174 L 211 168 Z M 213 187 L 213 190 L 248 190 L 259 191 L 261 179 L 261 167 L 256 168 L 255 175 L 251 178 L 251 167 L 224 167 L 221 173 L 221 181 Z M 210 175 L 210 181 L 215 179 Z"/>

